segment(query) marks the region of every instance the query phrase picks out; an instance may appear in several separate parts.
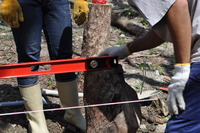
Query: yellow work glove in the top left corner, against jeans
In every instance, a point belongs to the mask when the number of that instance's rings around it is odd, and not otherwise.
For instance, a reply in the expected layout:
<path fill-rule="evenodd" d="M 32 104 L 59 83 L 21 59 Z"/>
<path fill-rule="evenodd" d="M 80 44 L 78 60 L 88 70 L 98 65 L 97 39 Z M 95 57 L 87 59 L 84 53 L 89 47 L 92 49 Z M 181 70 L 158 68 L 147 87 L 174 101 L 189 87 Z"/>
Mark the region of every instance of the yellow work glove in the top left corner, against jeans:
<path fill-rule="evenodd" d="M 24 21 L 22 9 L 17 0 L 3 0 L 0 6 L 0 15 L 13 28 L 19 27 L 19 21 Z"/>

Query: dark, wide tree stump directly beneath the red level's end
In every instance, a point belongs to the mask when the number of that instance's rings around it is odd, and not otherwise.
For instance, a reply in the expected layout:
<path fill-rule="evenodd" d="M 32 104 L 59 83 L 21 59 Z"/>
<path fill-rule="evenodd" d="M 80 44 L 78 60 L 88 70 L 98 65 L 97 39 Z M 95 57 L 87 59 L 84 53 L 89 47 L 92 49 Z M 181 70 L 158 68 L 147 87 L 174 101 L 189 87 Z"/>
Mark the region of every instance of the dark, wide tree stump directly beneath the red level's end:
<path fill-rule="evenodd" d="M 137 94 L 125 81 L 121 65 L 112 70 L 85 73 L 86 105 L 137 100 Z M 135 133 L 141 120 L 138 103 L 86 108 L 88 133 Z"/>

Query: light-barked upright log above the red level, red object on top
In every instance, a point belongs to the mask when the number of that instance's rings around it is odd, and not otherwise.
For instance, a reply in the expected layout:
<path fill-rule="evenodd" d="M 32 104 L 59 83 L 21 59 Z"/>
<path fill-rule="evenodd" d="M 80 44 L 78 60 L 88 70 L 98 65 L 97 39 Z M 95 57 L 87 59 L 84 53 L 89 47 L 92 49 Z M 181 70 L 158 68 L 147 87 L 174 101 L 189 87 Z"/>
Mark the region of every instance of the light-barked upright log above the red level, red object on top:
<path fill-rule="evenodd" d="M 110 4 L 90 4 L 88 22 L 84 27 L 82 55 L 97 56 L 108 47 L 110 39 Z"/>

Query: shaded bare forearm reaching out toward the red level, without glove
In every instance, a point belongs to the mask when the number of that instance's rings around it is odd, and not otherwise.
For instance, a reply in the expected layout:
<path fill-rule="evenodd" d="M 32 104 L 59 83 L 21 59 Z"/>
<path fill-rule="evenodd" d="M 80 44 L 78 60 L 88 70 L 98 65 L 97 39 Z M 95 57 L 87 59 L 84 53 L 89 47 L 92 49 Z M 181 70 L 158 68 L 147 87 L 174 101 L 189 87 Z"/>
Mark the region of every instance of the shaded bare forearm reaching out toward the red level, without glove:
<path fill-rule="evenodd" d="M 138 38 L 135 41 L 127 43 L 127 47 L 131 53 L 148 50 L 161 45 L 164 42 L 157 33 L 151 30 L 146 35 Z"/>

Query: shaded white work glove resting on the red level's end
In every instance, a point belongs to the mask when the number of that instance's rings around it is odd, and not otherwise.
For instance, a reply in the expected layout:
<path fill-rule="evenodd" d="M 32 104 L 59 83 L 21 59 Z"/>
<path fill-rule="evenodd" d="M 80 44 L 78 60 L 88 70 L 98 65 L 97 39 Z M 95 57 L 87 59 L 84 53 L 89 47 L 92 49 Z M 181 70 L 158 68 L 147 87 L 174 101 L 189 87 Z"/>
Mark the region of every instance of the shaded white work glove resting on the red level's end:
<path fill-rule="evenodd" d="M 99 56 L 118 56 L 119 59 L 124 59 L 131 53 L 126 45 L 110 47 L 105 49 L 99 54 Z"/>

